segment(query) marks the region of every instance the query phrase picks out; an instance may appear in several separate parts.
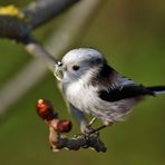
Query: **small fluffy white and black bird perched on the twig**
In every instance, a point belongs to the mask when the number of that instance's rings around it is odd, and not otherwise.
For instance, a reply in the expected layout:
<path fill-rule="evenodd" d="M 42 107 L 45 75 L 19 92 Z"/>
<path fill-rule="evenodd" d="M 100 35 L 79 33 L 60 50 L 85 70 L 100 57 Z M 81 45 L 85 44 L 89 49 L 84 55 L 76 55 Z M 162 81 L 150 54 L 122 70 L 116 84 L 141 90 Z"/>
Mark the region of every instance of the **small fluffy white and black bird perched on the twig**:
<path fill-rule="evenodd" d="M 123 120 L 145 96 L 165 94 L 165 86 L 145 87 L 122 76 L 98 50 L 90 48 L 67 52 L 56 65 L 55 76 L 81 132 L 90 125 L 86 113 L 100 119 L 103 128 Z"/>

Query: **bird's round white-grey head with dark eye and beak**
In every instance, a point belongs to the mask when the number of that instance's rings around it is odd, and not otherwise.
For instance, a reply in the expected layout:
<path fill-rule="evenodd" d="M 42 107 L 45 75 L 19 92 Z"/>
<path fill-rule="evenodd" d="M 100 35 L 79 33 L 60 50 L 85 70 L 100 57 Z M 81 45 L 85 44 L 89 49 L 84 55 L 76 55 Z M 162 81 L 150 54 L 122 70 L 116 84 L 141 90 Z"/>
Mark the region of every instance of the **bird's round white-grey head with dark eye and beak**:
<path fill-rule="evenodd" d="M 103 55 L 95 49 L 74 49 L 64 56 L 61 62 L 56 65 L 55 76 L 61 82 L 67 84 L 82 79 L 88 80 L 104 62 Z"/>

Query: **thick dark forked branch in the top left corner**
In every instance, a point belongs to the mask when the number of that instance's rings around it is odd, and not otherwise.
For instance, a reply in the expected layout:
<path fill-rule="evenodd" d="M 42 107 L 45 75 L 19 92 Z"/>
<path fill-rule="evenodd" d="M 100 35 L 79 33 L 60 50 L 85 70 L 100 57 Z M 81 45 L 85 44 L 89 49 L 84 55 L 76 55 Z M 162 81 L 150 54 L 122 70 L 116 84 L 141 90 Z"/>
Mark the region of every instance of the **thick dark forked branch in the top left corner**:
<path fill-rule="evenodd" d="M 20 10 L 19 16 L 0 16 L 0 37 L 25 41 L 31 30 L 71 7 L 79 0 L 38 0 Z M 11 30 L 12 29 L 12 30 Z"/>

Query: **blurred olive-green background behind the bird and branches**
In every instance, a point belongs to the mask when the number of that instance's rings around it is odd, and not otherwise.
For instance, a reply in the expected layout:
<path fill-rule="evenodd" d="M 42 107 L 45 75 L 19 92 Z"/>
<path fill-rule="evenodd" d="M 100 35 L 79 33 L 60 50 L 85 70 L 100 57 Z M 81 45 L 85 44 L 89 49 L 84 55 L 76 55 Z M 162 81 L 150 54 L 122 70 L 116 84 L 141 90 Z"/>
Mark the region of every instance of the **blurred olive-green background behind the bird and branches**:
<path fill-rule="evenodd" d="M 28 0 L 1 0 L 0 4 L 26 6 Z M 45 40 L 66 16 L 35 31 Z M 54 25 L 54 26 L 52 26 Z M 118 71 L 144 85 L 165 85 L 165 3 L 164 0 L 109 0 L 81 38 L 79 47 L 100 50 Z M 32 59 L 23 46 L 0 39 L 0 86 Z M 19 89 L 18 89 L 19 90 Z M 68 115 L 51 72 L 0 118 L 0 164 L 165 164 L 165 96 L 147 98 L 134 108 L 126 122 L 101 130 L 107 153 L 90 149 L 52 153 L 48 128 L 37 116 L 38 98 L 54 101 L 61 118 Z M 74 125 L 71 134 L 78 133 Z"/>

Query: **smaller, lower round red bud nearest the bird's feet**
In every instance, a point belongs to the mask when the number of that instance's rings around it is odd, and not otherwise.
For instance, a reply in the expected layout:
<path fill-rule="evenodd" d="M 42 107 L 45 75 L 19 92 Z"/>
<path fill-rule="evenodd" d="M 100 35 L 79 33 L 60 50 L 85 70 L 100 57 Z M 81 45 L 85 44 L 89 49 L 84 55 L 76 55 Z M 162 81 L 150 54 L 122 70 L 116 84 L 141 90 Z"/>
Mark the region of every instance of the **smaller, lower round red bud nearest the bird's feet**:
<path fill-rule="evenodd" d="M 57 124 L 57 129 L 59 132 L 62 132 L 62 133 L 70 132 L 71 130 L 71 127 L 72 127 L 71 122 L 70 120 L 67 120 L 67 119 L 61 119 Z"/>

